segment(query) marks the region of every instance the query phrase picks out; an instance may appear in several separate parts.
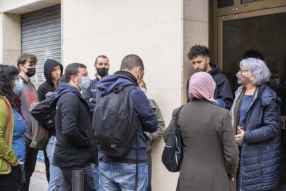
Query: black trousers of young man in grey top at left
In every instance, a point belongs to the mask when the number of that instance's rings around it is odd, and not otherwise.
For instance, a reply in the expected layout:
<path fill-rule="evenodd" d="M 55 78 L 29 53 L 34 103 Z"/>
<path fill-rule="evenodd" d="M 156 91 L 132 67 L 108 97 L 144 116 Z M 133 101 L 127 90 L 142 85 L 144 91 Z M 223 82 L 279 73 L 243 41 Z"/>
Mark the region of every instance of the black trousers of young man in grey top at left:
<path fill-rule="evenodd" d="M 28 191 L 30 185 L 30 178 L 35 170 L 37 162 L 38 150 L 30 147 L 30 143 L 26 143 L 26 157 L 25 157 L 25 174 L 26 183 L 20 186 L 19 190 Z"/>

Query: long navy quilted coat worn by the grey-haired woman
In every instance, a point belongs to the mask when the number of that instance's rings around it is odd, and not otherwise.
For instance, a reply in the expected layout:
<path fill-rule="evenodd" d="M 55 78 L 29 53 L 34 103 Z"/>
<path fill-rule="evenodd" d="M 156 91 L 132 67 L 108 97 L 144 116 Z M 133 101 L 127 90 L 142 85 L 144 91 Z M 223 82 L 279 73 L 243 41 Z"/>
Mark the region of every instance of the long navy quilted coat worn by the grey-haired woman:
<path fill-rule="evenodd" d="M 266 84 L 258 88 L 247 111 L 240 151 L 239 190 L 270 190 L 280 181 L 281 100 Z M 236 91 L 233 107 L 242 89 Z M 232 120 L 234 115 L 232 108 Z"/>

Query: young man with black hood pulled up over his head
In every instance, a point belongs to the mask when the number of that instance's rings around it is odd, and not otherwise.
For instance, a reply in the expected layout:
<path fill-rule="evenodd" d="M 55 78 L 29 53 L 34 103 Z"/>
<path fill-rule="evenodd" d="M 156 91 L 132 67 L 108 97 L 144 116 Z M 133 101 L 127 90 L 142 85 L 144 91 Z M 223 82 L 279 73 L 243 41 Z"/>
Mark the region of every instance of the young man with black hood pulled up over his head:
<path fill-rule="evenodd" d="M 59 62 L 47 59 L 44 64 L 44 75 L 46 82 L 41 84 L 38 88 L 38 98 L 39 102 L 46 100 L 46 94 L 48 92 L 54 92 L 56 90 L 57 80 L 63 73 L 63 66 Z M 55 131 L 50 133 L 50 136 L 54 136 Z M 45 165 L 46 165 L 46 177 L 47 181 L 50 182 L 50 162 L 48 161 L 48 156 L 46 150 L 44 150 Z"/>

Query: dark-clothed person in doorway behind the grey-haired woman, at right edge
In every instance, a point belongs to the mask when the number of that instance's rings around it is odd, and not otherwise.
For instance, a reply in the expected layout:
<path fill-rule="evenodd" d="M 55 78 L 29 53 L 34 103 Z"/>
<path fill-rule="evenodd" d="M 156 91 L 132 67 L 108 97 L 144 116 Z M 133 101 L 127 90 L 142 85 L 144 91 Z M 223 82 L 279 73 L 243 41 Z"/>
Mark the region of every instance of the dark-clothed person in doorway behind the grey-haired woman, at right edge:
<path fill-rule="evenodd" d="M 269 87 L 276 91 L 277 95 L 281 98 L 281 116 L 286 116 L 286 87 L 280 82 L 280 75 L 278 71 L 271 71 Z"/>

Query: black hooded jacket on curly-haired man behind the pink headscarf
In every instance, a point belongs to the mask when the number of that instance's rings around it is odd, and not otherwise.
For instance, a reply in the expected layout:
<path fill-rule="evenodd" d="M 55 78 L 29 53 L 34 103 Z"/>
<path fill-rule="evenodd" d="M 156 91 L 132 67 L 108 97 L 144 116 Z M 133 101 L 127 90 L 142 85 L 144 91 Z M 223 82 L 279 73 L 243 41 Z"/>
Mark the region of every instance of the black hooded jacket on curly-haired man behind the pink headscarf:
<path fill-rule="evenodd" d="M 209 71 L 209 74 L 213 78 L 213 81 L 216 82 L 216 90 L 215 90 L 215 94 L 213 98 L 224 101 L 226 104 L 225 106 L 226 109 L 231 109 L 231 106 L 233 103 L 233 95 L 231 91 L 231 86 L 229 84 L 229 80 L 227 79 L 225 74 L 222 73 L 222 71 L 216 64 L 210 63 L 210 66 L 211 66 L 211 71 Z M 188 102 L 190 102 L 189 93 L 188 93 L 189 82 L 190 82 L 190 78 L 187 82 L 187 87 L 186 87 Z"/>

